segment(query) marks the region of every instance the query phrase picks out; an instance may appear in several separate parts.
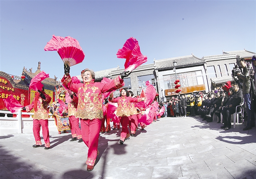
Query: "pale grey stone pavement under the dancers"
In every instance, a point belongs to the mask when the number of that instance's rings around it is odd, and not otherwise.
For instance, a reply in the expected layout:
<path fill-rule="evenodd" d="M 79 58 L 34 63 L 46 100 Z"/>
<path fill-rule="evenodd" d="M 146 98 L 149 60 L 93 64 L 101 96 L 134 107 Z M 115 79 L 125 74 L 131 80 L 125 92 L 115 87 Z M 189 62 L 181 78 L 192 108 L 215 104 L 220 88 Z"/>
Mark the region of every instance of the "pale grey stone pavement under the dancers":
<path fill-rule="evenodd" d="M 120 131 L 100 134 L 94 170 L 88 148 L 71 134 L 50 131 L 51 148 L 32 148 L 32 133 L 0 138 L 1 179 L 252 179 L 256 178 L 256 129 L 220 129 L 199 117 L 161 118 L 123 145 Z M 41 135 L 42 136 L 42 135 Z M 43 139 L 42 139 L 43 142 Z"/>

